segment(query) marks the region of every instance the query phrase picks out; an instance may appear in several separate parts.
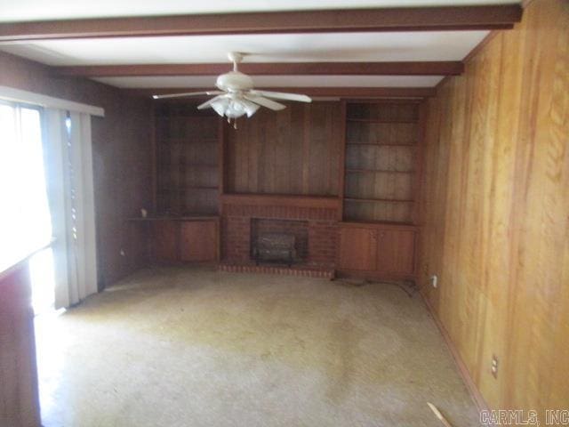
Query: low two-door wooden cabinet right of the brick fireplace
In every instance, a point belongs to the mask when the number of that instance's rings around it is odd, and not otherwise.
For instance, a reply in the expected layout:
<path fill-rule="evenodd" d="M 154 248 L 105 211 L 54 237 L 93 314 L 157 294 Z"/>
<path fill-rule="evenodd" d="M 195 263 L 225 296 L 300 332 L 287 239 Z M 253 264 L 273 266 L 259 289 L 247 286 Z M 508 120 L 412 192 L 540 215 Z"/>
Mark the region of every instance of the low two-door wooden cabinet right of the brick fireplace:
<path fill-rule="evenodd" d="M 376 278 L 413 278 L 413 227 L 342 222 L 339 233 L 339 270 Z"/>

